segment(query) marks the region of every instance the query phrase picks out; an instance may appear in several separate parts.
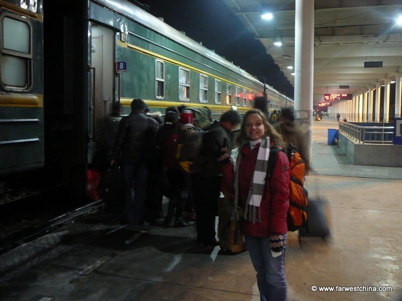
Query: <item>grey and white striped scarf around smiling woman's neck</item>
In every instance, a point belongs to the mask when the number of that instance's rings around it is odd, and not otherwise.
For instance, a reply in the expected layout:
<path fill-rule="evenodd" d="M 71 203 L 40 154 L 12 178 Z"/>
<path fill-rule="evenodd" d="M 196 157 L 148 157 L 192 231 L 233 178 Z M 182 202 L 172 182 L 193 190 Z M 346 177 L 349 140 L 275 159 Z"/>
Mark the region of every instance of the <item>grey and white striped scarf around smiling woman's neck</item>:
<path fill-rule="evenodd" d="M 249 143 L 249 142 L 244 142 Z M 242 146 L 243 146 L 242 144 Z M 242 148 L 240 146 L 240 149 Z M 265 176 L 268 168 L 268 158 L 269 158 L 269 137 L 263 137 L 261 139 L 260 147 L 258 148 L 257 161 L 255 162 L 253 178 L 251 180 L 251 187 L 248 192 L 246 208 L 244 210 L 244 219 L 255 222 L 261 222 L 261 212 L 259 210 L 262 193 L 265 186 Z M 239 156 L 236 160 L 236 171 L 235 171 L 235 205 L 234 208 L 237 208 L 239 204 L 239 167 L 242 159 L 242 153 L 239 152 Z M 258 217 L 257 217 L 258 213 Z M 232 220 L 236 218 L 239 219 L 239 216 L 236 212 L 232 213 Z"/>

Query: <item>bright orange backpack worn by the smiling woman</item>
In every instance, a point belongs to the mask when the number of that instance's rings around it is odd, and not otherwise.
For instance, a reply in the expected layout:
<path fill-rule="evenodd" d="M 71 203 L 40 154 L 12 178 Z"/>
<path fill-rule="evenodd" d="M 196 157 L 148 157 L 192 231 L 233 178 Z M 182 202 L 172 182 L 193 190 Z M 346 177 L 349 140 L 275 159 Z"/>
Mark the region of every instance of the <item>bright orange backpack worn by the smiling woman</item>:
<path fill-rule="evenodd" d="M 271 148 L 268 159 L 267 178 L 270 178 L 276 164 L 278 148 Z M 300 227 L 307 227 L 308 191 L 304 188 L 306 164 L 297 152 L 296 147 L 290 143 L 283 149 L 289 159 L 290 186 L 289 186 L 289 210 L 287 211 L 287 229 L 296 231 Z M 271 156 L 273 155 L 273 156 Z"/>

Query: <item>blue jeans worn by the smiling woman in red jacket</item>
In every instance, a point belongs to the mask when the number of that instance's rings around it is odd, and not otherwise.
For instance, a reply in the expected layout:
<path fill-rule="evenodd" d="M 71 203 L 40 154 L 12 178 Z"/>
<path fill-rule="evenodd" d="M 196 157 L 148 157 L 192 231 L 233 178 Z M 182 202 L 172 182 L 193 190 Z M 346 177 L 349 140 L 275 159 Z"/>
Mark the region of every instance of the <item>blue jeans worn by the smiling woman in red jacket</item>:
<path fill-rule="evenodd" d="M 273 257 L 269 237 L 246 236 L 251 262 L 257 272 L 257 285 L 261 301 L 285 301 L 287 282 L 284 269 L 285 247 L 282 254 Z M 284 235 L 287 238 L 287 234 Z"/>

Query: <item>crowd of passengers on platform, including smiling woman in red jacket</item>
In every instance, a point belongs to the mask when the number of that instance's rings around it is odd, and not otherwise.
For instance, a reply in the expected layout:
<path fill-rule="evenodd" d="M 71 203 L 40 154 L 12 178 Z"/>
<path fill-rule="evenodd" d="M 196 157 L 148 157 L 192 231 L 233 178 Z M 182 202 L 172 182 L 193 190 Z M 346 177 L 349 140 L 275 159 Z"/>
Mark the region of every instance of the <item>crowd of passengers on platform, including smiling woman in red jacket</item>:
<path fill-rule="evenodd" d="M 310 163 L 293 111 L 283 108 L 268 118 L 259 109 L 264 101 L 256 98 L 243 120 L 235 110 L 224 112 L 219 121 L 211 119 L 199 154 L 186 173 L 176 162 L 180 128 L 194 127 L 185 106 L 166 108 L 162 122 L 161 114 L 151 115 L 143 100 L 134 99 L 131 113 L 115 129 L 113 147 L 109 139 L 109 163 L 122 169 L 122 223 L 134 231 L 146 233 L 150 224 L 185 227 L 195 222 L 197 241 L 205 247 L 216 246 L 221 192 L 236 199 L 242 208 L 243 232 L 260 294 L 285 300 L 289 162 L 279 152 L 271 180 L 266 181 L 270 148 L 292 142 L 305 159 L 307 172 Z M 237 141 L 232 141 L 231 131 L 239 125 Z M 231 157 L 233 145 L 239 146 L 236 162 Z M 163 196 L 169 198 L 167 215 L 162 210 Z"/>

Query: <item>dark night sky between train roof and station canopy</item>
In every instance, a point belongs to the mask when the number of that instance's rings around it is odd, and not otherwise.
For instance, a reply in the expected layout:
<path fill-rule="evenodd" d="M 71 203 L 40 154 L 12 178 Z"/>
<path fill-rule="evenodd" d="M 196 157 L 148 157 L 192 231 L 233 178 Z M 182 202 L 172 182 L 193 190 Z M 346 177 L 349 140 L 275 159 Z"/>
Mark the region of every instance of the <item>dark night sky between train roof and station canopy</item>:
<path fill-rule="evenodd" d="M 149 6 L 150 14 L 293 98 L 293 87 L 283 72 L 222 0 L 138 1 Z"/>

